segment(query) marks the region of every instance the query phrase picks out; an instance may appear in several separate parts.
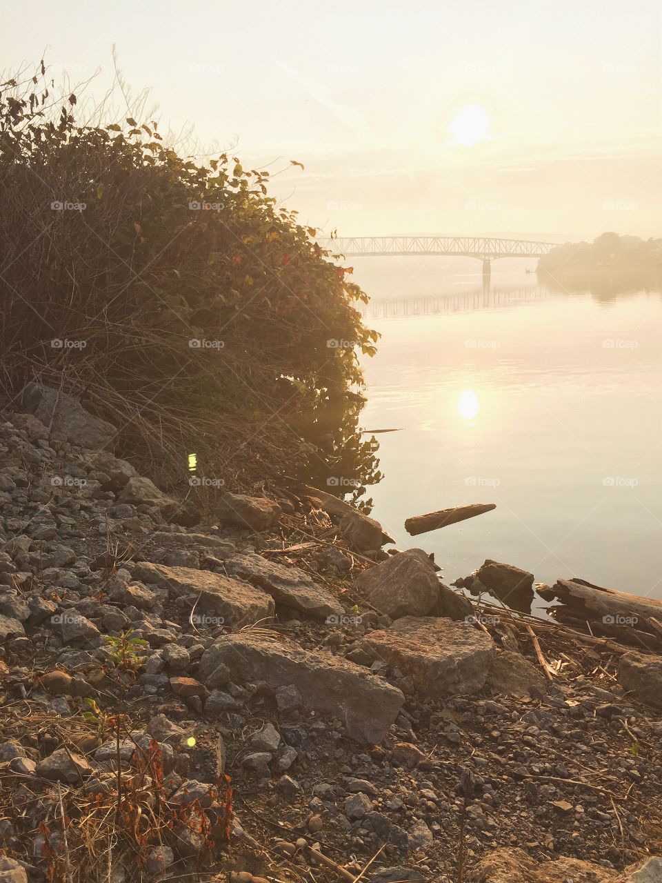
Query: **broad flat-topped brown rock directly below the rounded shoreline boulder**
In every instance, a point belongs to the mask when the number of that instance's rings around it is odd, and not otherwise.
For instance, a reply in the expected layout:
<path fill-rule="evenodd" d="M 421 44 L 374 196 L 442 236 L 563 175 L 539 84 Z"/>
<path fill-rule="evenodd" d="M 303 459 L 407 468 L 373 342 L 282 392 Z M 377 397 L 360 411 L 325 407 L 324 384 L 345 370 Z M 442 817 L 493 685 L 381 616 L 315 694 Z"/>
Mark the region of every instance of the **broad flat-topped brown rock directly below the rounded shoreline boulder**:
<path fill-rule="evenodd" d="M 494 656 L 489 635 L 469 623 L 407 616 L 360 642 L 366 652 L 409 675 L 421 695 L 475 693 L 485 686 Z"/>

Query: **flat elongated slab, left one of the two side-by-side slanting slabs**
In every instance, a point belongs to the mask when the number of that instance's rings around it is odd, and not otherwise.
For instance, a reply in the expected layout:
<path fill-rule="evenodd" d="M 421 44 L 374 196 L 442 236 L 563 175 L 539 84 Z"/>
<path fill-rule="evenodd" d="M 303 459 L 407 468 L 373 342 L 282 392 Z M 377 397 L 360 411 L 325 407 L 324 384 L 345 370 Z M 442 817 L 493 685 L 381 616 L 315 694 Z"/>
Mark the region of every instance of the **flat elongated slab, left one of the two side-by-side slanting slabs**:
<path fill-rule="evenodd" d="M 267 592 L 209 570 L 139 562 L 134 566 L 132 576 L 143 583 L 168 589 L 176 598 L 181 595 L 199 598 L 195 615 L 207 611 L 222 617 L 224 622 L 221 624 L 231 629 L 241 629 L 275 614 L 274 599 Z"/>

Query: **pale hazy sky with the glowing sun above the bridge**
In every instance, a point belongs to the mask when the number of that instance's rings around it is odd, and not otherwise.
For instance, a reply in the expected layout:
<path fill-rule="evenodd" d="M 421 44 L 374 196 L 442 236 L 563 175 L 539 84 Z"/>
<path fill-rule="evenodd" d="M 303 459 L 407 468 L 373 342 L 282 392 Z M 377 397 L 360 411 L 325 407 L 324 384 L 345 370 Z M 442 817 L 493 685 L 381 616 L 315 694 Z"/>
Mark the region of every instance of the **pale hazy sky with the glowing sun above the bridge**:
<path fill-rule="evenodd" d="M 5 72 L 102 94 L 111 49 L 162 128 L 236 144 L 340 234 L 662 236 L 659 0 L 0 0 Z"/>

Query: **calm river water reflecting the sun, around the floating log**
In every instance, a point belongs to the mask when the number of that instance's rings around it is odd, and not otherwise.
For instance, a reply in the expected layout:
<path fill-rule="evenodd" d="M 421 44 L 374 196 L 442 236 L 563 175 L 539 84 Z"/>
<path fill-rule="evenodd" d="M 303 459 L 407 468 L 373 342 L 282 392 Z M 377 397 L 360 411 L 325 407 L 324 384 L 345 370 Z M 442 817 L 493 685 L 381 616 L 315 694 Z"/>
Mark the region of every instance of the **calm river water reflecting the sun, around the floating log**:
<path fill-rule="evenodd" d="M 402 430 L 377 436 L 369 494 L 398 547 L 434 552 L 447 582 L 493 558 L 662 598 L 660 292 L 550 291 L 522 264 L 484 291 L 476 264 L 362 260 L 382 335 L 362 424 Z M 497 508 L 404 531 L 470 502 Z"/>

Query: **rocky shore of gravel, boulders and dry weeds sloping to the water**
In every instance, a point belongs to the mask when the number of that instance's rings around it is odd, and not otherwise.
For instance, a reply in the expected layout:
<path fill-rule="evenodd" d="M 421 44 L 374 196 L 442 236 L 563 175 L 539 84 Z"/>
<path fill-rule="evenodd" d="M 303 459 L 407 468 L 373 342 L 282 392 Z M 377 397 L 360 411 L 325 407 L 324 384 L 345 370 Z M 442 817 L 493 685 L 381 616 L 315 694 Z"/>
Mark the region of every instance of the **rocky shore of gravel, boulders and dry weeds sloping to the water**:
<path fill-rule="evenodd" d="M 1 883 L 662 880 L 648 647 L 481 606 L 315 488 L 203 511 L 75 400 L 35 386 L 21 409 L 0 423 Z"/>

